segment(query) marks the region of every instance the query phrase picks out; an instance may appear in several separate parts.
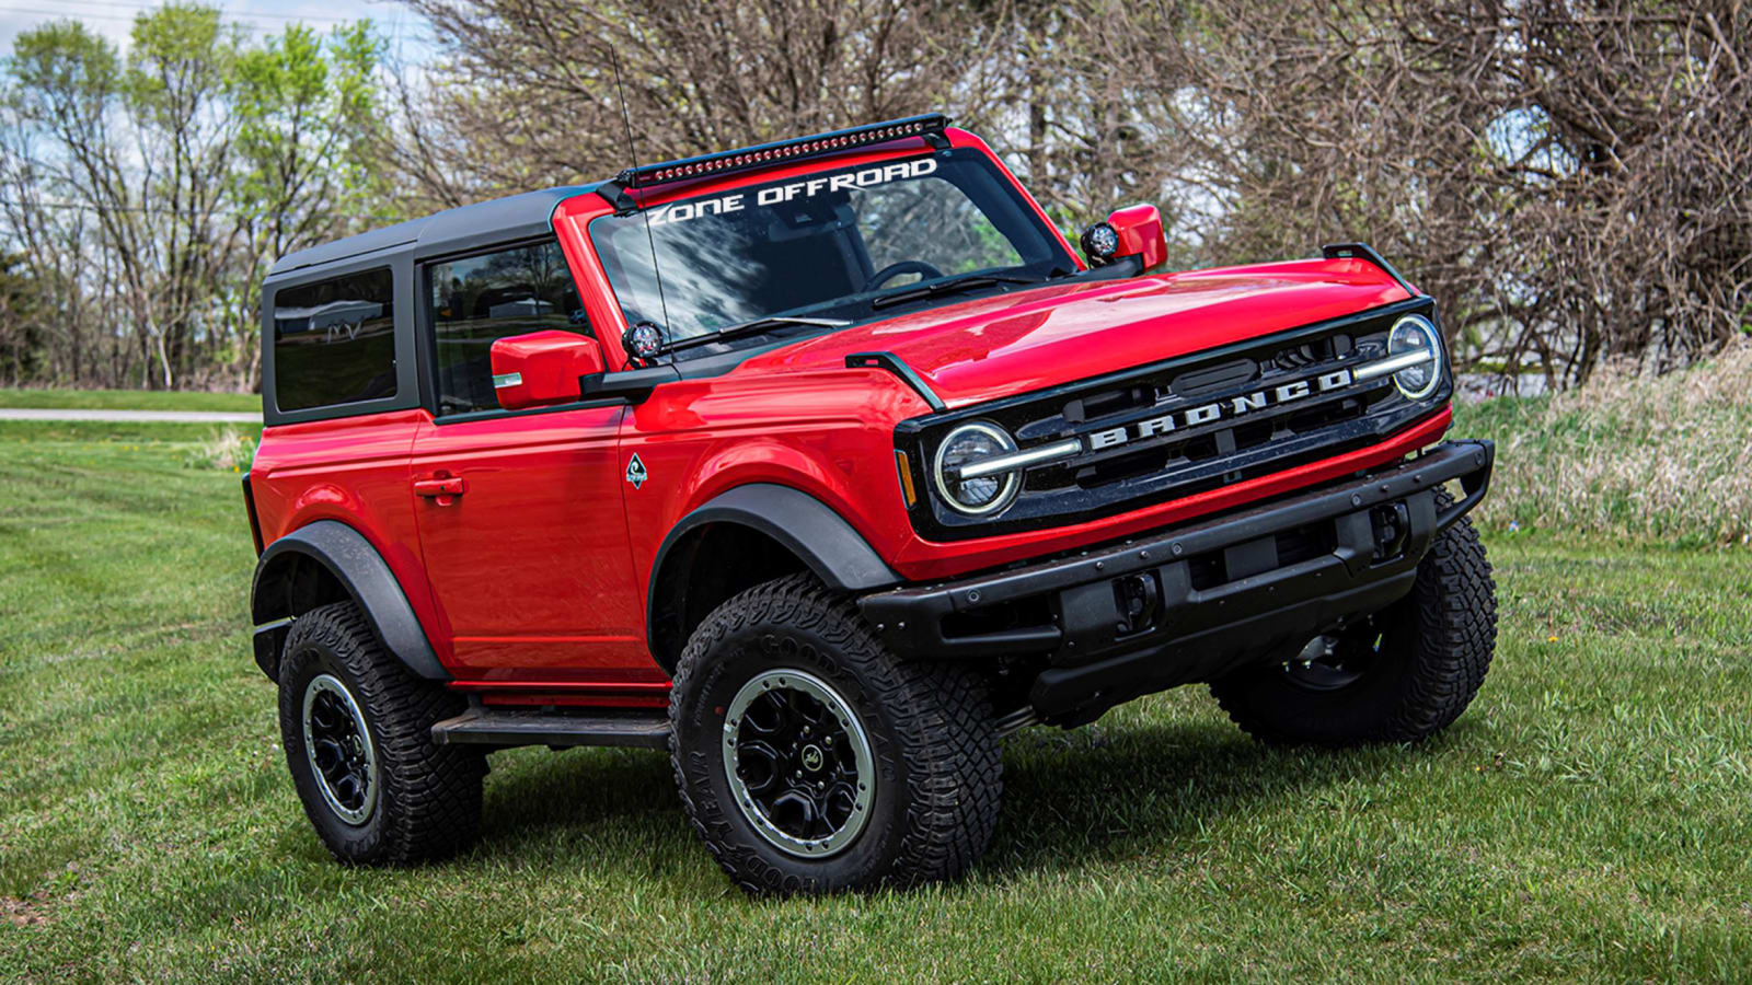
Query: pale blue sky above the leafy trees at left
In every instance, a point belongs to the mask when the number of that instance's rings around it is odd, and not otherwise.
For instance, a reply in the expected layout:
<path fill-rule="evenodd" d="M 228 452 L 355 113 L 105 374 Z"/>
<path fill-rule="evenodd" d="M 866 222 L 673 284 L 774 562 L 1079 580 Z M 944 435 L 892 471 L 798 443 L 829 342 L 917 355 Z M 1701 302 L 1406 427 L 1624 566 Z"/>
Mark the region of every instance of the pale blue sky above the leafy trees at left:
<path fill-rule="evenodd" d="M 385 0 L 207 0 L 256 35 L 277 33 L 291 23 L 326 32 L 340 23 L 368 18 L 391 39 L 391 54 L 420 61 L 429 51 L 424 23 L 406 7 Z M 126 47 L 133 18 L 158 4 L 149 0 L 0 0 L 0 54 L 12 53 L 12 39 L 44 21 L 74 18 L 93 32 Z"/>

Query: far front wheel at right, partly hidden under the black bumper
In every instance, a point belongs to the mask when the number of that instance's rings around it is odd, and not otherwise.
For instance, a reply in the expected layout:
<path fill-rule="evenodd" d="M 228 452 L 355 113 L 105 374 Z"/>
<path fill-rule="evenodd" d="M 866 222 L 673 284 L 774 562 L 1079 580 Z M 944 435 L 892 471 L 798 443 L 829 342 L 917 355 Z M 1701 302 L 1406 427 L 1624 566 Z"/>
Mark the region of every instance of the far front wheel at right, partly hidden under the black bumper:
<path fill-rule="evenodd" d="M 1431 542 L 1403 599 L 1314 640 L 1298 659 L 1237 671 L 1211 692 L 1237 726 L 1267 741 L 1417 741 L 1466 710 L 1494 648 L 1496 584 L 1479 533 L 1461 519 Z"/>

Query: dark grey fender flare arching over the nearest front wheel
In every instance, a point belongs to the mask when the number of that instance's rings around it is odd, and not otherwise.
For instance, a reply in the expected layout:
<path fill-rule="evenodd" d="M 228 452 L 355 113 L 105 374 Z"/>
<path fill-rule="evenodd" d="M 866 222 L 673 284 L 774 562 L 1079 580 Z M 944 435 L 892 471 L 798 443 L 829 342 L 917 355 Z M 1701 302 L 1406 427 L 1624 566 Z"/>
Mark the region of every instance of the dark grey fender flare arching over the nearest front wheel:
<path fill-rule="evenodd" d="M 645 589 L 645 641 L 657 652 L 657 592 L 664 582 L 664 563 L 671 549 L 687 535 L 708 524 L 739 524 L 776 540 L 830 589 L 867 592 L 902 582 L 901 575 L 876 554 L 832 507 L 790 485 L 750 482 L 701 503 L 669 529 L 657 547 Z"/>

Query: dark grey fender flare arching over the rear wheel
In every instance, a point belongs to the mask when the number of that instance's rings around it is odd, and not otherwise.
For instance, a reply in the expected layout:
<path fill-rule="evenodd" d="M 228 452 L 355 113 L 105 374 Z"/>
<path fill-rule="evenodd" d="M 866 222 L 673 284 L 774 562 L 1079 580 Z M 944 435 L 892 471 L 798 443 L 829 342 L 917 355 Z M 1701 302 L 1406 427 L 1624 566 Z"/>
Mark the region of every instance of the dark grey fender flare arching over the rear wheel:
<path fill-rule="evenodd" d="M 263 673 L 270 678 L 279 673 L 280 643 L 298 615 L 289 578 L 301 559 L 321 564 L 347 589 L 371 620 L 377 641 L 410 671 L 426 680 L 450 680 L 389 563 L 364 535 L 340 521 L 301 526 L 261 552 L 249 608 L 256 624 L 256 663 Z"/>

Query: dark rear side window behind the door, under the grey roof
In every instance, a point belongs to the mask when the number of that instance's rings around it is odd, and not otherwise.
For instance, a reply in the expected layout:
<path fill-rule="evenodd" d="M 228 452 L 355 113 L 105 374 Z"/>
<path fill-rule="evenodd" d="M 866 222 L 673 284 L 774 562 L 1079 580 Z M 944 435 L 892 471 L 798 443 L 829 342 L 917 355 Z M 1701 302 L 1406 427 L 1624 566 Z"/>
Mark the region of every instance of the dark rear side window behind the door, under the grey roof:
<path fill-rule="evenodd" d="M 387 268 L 273 293 L 273 401 L 308 410 L 396 396 Z"/>

